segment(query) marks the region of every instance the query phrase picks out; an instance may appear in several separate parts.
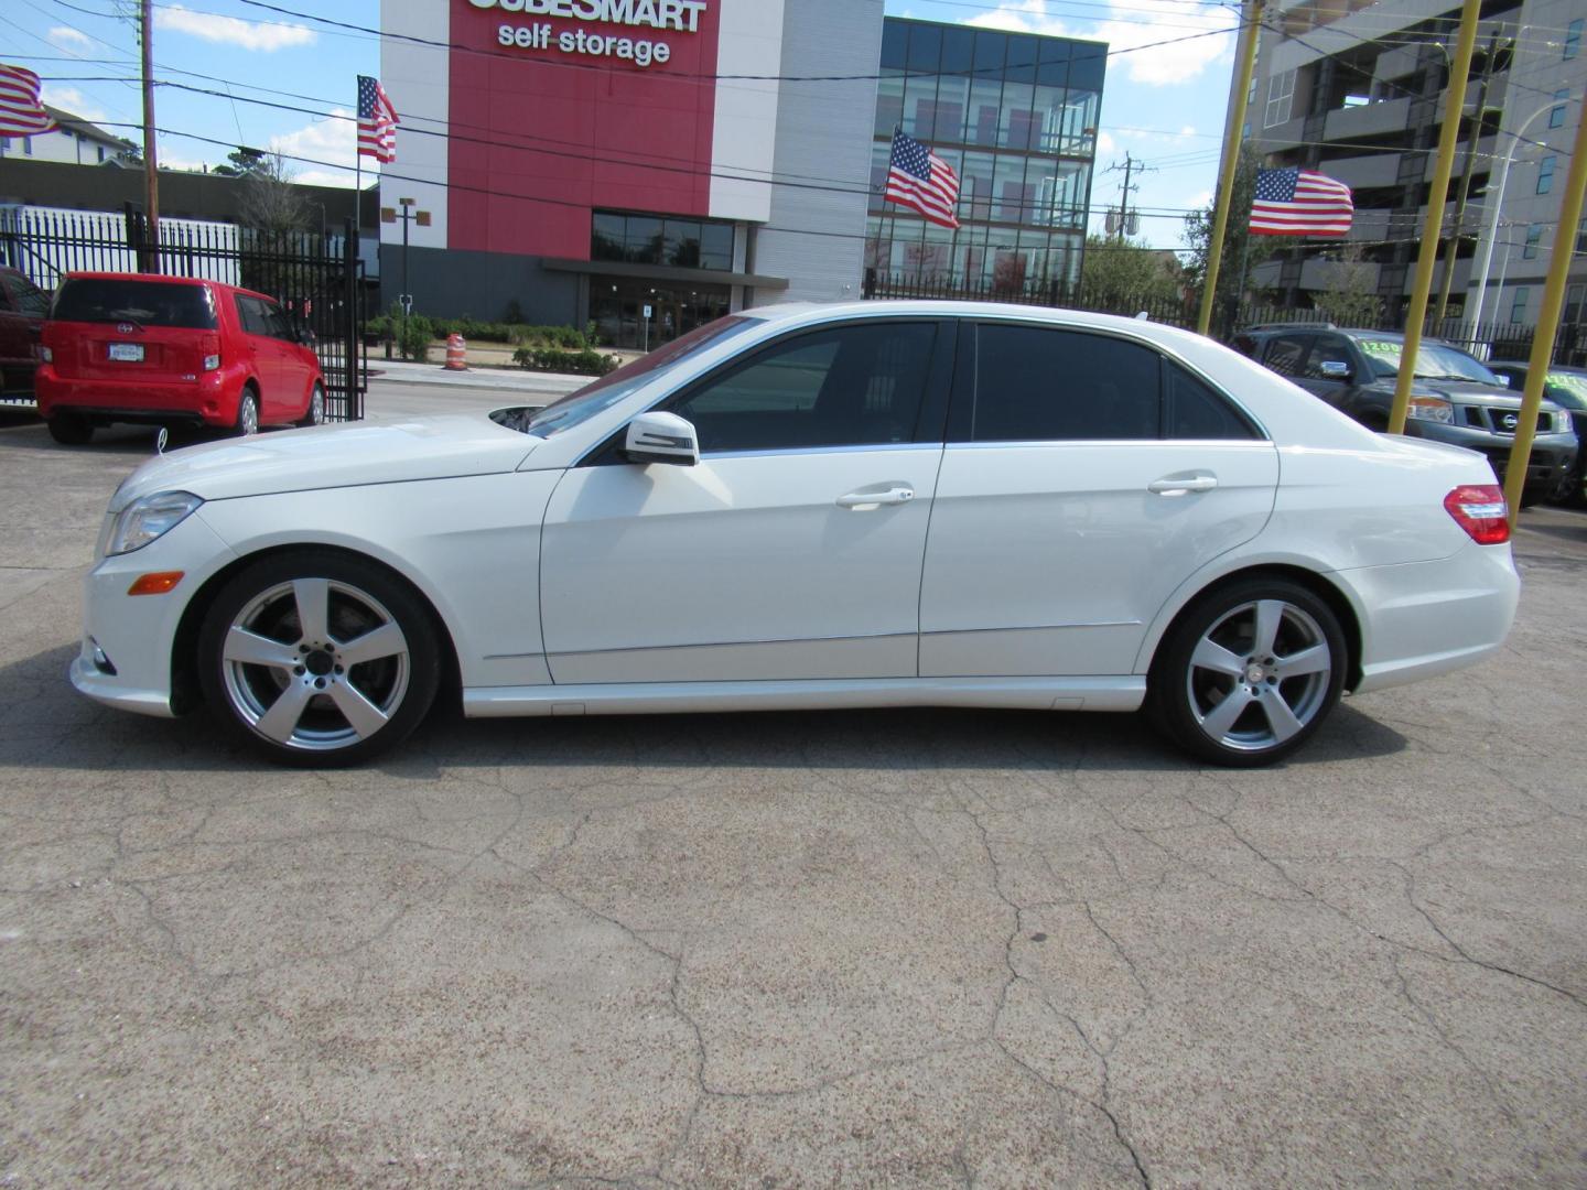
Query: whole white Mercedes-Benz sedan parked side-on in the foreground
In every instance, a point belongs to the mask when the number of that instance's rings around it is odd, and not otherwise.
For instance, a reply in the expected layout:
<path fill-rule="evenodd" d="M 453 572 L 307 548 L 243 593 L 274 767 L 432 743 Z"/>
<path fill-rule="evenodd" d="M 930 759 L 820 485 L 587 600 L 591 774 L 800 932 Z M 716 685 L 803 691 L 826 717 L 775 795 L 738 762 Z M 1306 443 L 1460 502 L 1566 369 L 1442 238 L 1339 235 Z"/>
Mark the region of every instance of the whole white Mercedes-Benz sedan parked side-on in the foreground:
<path fill-rule="evenodd" d="M 176 451 L 111 500 L 71 681 L 346 765 L 468 716 L 1135 711 L 1260 765 L 1500 647 L 1489 463 L 1209 340 L 773 306 L 544 409 Z"/>

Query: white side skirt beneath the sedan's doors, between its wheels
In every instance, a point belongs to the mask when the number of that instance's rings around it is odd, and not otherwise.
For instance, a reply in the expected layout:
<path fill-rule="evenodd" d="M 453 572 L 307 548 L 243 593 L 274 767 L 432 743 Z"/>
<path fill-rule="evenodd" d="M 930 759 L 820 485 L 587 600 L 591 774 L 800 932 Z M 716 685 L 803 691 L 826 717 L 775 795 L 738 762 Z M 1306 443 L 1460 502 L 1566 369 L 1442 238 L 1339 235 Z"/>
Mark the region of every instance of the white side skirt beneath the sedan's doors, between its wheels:
<path fill-rule="evenodd" d="M 843 711 L 881 706 L 986 706 L 1028 711 L 1135 711 L 1146 678 L 844 678 L 782 682 L 490 685 L 463 690 L 470 719 L 676 714 L 682 711 Z"/>

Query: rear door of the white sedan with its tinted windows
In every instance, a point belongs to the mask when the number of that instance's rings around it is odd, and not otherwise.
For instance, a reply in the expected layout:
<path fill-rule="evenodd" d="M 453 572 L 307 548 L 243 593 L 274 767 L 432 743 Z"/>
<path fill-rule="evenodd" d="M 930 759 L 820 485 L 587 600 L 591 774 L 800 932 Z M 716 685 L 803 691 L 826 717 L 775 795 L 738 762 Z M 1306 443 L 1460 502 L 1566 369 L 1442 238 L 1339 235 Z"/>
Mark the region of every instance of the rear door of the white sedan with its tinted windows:
<path fill-rule="evenodd" d="M 1170 593 L 1266 524 L 1278 452 L 1143 343 L 984 322 L 971 349 L 927 543 L 920 676 L 1132 673 Z"/>

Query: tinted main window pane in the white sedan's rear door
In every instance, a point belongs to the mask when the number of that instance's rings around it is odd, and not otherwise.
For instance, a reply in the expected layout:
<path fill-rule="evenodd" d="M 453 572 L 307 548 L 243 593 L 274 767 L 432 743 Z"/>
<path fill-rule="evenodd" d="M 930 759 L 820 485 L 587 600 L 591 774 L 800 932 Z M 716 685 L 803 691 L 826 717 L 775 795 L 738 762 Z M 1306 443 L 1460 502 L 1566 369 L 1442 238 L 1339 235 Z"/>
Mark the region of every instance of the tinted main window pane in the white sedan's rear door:
<path fill-rule="evenodd" d="M 1157 438 L 1160 359 L 1109 335 L 982 324 L 970 441 Z"/>

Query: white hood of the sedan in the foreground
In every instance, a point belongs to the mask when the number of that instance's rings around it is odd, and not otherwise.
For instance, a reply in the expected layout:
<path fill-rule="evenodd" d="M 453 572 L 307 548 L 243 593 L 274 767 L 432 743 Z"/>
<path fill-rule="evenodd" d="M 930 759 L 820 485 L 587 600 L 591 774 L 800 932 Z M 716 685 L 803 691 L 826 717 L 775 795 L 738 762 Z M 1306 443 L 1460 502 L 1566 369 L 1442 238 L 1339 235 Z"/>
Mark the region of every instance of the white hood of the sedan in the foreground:
<path fill-rule="evenodd" d="M 110 511 L 154 492 L 233 500 L 516 471 L 536 443 L 484 413 L 260 433 L 151 459 L 116 489 Z"/>

